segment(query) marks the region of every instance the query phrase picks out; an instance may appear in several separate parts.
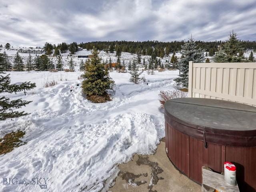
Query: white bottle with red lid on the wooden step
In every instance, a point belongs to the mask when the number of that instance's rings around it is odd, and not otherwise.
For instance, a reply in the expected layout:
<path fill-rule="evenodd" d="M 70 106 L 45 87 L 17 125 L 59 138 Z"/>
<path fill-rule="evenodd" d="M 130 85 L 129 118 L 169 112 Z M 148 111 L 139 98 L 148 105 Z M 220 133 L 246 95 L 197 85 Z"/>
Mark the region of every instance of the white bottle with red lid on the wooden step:
<path fill-rule="evenodd" d="M 236 166 L 234 164 L 224 163 L 224 179 L 228 184 L 236 186 Z"/>

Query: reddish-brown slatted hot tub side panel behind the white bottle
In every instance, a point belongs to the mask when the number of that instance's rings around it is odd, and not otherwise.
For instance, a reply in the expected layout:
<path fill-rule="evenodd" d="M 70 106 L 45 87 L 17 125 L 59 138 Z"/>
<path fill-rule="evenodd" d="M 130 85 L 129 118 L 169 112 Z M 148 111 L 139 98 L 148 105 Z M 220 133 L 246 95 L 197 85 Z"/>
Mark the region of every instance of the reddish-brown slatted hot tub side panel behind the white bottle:
<path fill-rule="evenodd" d="M 254 158 L 248 158 L 252 156 Z M 242 192 L 255 191 L 251 187 L 256 189 L 256 147 L 226 146 L 226 161 L 236 165 L 236 180 L 239 188 L 244 189 Z M 250 183 L 251 187 L 247 183 Z"/>

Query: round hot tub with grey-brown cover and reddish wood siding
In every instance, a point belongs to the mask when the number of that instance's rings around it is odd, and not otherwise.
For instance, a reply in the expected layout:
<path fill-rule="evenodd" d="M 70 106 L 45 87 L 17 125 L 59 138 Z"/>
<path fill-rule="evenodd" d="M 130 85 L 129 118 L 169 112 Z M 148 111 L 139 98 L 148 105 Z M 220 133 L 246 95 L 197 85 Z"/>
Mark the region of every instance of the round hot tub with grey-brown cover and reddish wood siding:
<path fill-rule="evenodd" d="M 166 153 L 182 173 L 201 184 L 202 166 L 224 172 L 236 165 L 240 191 L 256 191 L 256 107 L 204 98 L 164 104 Z"/>

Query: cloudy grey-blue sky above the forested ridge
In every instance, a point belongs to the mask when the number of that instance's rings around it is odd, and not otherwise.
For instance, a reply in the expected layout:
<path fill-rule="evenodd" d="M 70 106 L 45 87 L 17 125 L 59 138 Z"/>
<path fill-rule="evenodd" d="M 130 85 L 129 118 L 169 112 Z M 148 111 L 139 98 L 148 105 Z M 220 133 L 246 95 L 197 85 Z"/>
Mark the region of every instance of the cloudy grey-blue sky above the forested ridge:
<path fill-rule="evenodd" d="M 255 0 L 0 0 L 0 44 L 256 40 Z"/>

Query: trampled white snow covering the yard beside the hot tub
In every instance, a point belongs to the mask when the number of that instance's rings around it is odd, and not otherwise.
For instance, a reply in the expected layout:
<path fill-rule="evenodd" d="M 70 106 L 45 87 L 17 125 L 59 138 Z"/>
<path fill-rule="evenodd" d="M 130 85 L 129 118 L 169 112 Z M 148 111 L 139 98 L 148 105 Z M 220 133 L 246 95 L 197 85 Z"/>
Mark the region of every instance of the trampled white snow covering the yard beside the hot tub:
<path fill-rule="evenodd" d="M 0 121 L 0 137 L 26 132 L 22 138 L 26 144 L 0 156 L 1 191 L 36 191 L 47 186 L 50 192 L 98 192 L 111 184 L 108 178 L 116 164 L 156 149 L 164 137 L 158 94 L 174 89 L 172 79 L 178 71 L 144 72 L 147 82 L 140 84 L 130 82 L 129 73 L 110 72 L 116 88 L 112 101 L 103 104 L 82 95 L 80 74 L 10 72 L 12 83 L 31 81 L 37 87 L 26 96 L 5 94 L 33 102 L 21 109 L 31 113 L 28 116 Z M 58 84 L 43 88 L 51 80 Z M 27 184 L 18 184 L 20 180 Z"/>

